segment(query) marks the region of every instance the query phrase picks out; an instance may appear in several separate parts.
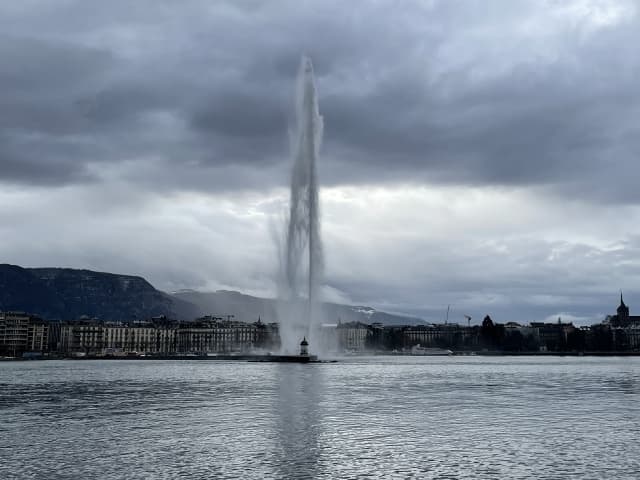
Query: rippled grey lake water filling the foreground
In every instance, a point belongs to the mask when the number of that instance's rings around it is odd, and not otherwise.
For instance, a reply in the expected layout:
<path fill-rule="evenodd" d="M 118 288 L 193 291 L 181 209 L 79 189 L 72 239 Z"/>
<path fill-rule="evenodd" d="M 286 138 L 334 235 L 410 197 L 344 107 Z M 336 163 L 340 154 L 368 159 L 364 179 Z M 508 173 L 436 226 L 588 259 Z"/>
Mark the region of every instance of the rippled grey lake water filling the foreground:
<path fill-rule="evenodd" d="M 0 478 L 640 478 L 640 358 L 0 363 Z"/>

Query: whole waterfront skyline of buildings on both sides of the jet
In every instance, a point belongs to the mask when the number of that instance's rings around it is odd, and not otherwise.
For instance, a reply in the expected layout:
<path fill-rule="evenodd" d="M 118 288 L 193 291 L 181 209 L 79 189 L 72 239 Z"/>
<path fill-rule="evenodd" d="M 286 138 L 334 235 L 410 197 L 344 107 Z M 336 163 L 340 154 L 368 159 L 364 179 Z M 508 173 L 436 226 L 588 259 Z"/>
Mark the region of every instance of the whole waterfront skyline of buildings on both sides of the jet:
<path fill-rule="evenodd" d="M 313 343 L 313 340 L 312 340 Z M 340 322 L 322 328 L 327 350 L 340 352 L 407 352 L 415 347 L 457 351 L 616 352 L 640 351 L 640 317 L 629 315 L 620 299 L 617 315 L 590 327 L 572 323 L 423 324 L 386 326 Z M 20 312 L 0 312 L 0 356 L 176 355 L 277 351 L 278 324 L 207 316 L 191 322 L 166 317 L 146 321 L 48 322 Z"/>

